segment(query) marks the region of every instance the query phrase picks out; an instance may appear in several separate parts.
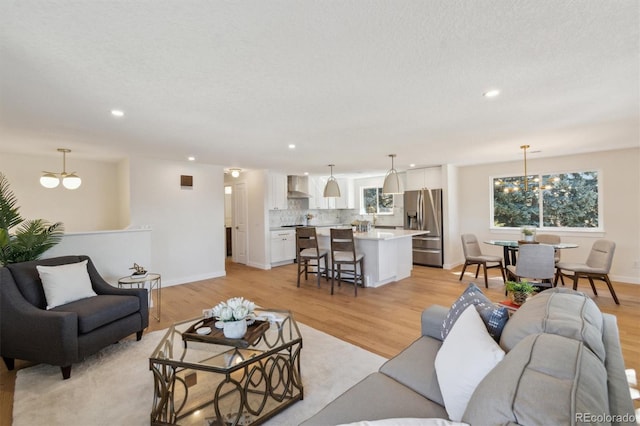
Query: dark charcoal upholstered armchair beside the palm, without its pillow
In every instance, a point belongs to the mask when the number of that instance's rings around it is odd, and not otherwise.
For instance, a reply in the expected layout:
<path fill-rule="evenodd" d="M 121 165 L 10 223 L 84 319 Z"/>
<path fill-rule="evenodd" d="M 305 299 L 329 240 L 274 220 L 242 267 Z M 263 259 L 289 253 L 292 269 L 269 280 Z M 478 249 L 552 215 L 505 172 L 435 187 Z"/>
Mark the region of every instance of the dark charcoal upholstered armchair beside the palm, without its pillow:
<path fill-rule="evenodd" d="M 36 265 L 57 266 L 88 260 L 97 296 L 46 310 Z M 58 365 L 63 379 L 71 364 L 149 325 L 146 289 L 119 289 L 98 274 L 88 256 L 63 256 L 0 268 L 0 354 L 9 370 L 14 360 Z"/>

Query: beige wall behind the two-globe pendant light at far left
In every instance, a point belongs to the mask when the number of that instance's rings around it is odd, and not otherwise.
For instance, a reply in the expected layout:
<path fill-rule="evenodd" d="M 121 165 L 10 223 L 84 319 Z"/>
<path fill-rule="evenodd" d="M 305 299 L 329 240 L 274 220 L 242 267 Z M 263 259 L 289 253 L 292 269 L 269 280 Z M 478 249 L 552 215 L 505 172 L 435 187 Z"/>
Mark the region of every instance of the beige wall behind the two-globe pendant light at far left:
<path fill-rule="evenodd" d="M 80 188 L 70 191 L 62 184 L 54 189 L 40 185 L 43 170 L 62 171 L 62 155 L 32 156 L 0 154 L 0 171 L 9 180 L 25 219 L 46 219 L 64 223 L 66 232 L 118 229 L 121 200 L 116 163 L 81 160 L 67 154 L 67 172 L 82 178 Z"/>

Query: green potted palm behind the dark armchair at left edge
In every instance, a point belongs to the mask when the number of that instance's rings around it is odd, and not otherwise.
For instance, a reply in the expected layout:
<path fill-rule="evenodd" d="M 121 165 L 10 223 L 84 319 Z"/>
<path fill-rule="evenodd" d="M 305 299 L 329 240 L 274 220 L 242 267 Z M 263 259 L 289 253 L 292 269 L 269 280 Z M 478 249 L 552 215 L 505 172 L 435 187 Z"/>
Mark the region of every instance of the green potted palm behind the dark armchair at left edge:
<path fill-rule="evenodd" d="M 0 173 L 0 266 L 38 259 L 64 234 L 61 222 L 22 218 L 17 204 L 9 181 Z"/>

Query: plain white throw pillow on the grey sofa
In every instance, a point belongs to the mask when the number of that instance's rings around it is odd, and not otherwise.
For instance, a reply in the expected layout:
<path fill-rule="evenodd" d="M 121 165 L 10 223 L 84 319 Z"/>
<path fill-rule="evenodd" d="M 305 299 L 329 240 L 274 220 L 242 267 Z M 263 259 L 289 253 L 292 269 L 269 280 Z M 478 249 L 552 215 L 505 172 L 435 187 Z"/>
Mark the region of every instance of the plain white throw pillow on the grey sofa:
<path fill-rule="evenodd" d="M 449 418 L 460 421 L 473 391 L 504 358 L 473 305 L 460 315 L 436 355 L 440 392 Z"/>

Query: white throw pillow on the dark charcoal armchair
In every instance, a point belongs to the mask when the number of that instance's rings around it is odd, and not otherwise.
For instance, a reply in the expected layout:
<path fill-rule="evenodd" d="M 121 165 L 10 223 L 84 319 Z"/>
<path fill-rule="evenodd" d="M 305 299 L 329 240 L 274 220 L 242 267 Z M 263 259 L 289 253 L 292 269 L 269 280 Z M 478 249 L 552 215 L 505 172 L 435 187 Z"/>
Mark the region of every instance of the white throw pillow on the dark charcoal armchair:
<path fill-rule="evenodd" d="M 97 296 L 91 287 L 86 260 L 59 266 L 37 265 L 36 269 L 47 299 L 47 309 Z"/>

